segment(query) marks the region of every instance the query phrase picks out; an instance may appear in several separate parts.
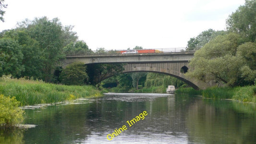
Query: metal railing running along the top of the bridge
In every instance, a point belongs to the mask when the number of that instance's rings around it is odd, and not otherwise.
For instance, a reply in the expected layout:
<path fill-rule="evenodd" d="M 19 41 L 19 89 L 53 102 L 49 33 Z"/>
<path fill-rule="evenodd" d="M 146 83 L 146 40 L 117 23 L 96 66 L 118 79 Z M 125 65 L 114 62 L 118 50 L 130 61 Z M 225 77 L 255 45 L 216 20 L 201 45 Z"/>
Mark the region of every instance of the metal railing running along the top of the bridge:
<path fill-rule="evenodd" d="M 138 53 L 174 53 L 174 52 L 193 52 L 186 48 L 152 48 L 152 49 L 136 49 Z M 88 50 L 88 51 L 67 51 L 66 56 L 85 56 L 85 55 L 104 55 L 104 54 L 123 54 L 127 50 Z M 125 53 L 135 54 L 135 53 Z"/>

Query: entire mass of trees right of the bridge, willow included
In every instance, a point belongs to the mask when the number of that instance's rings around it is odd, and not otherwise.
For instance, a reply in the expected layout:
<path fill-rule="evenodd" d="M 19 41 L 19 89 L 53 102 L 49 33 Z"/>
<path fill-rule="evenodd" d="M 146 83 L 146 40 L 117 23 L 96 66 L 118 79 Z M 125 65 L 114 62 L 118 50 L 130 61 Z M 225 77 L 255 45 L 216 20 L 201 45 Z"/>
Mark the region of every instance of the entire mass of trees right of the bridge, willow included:
<path fill-rule="evenodd" d="M 186 75 L 198 80 L 214 80 L 229 86 L 244 86 L 256 82 L 256 0 L 245 0 L 227 19 L 227 32 L 212 36 L 212 30 L 202 32 L 188 41 L 188 50 L 199 49 L 190 61 L 192 69 Z M 198 40 L 198 39 L 207 39 Z M 200 42 L 206 42 L 203 46 Z M 199 45 L 199 47 L 198 47 Z M 202 47 L 201 47 L 202 46 Z M 201 48 L 200 48 L 201 47 Z"/>

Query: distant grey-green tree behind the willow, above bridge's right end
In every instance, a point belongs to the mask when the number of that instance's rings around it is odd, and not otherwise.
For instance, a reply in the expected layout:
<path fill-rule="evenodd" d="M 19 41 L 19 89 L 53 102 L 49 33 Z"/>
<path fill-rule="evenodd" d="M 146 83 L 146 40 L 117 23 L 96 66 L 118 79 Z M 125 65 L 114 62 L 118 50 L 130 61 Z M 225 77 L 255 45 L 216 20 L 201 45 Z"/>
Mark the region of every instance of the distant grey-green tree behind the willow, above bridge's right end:
<path fill-rule="evenodd" d="M 213 29 L 208 29 L 203 31 L 198 36 L 190 38 L 187 43 L 186 50 L 197 50 L 202 48 L 205 44 L 207 44 L 210 40 L 214 39 L 216 36 L 224 35 L 224 31 L 214 31 Z"/>

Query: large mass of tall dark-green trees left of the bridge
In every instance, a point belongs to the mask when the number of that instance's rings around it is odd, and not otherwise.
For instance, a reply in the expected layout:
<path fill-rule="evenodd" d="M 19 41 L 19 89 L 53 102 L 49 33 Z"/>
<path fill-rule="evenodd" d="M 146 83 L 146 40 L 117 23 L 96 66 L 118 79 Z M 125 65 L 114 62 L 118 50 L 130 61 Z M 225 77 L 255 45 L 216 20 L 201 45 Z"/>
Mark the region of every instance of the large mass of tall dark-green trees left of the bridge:
<path fill-rule="evenodd" d="M 64 57 L 63 48 L 77 41 L 72 28 L 63 26 L 57 18 L 42 17 L 25 20 L 17 28 L 1 32 L 0 61 L 5 67 L 0 76 L 12 74 L 16 78 L 28 76 L 53 82 L 52 71 Z M 8 57 L 11 56 L 13 63 L 10 65 Z"/>

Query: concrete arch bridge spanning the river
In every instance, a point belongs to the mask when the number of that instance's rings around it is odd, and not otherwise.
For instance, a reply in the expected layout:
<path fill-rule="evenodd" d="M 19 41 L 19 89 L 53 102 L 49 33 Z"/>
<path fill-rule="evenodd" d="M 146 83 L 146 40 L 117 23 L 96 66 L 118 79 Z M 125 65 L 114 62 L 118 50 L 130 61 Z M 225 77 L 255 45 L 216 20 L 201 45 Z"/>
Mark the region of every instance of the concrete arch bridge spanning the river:
<path fill-rule="evenodd" d="M 66 56 L 62 60 L 62 68 L 76 61 L 85 64 L 91 63 L 109 63 L 124 65 L 125 72 L 158 72 L 176 77 L 195 89 L 205 89 L 212 86 L 211 83 L 205 83 L 189 77 L 186 73 L 189 69 L 188 61 L 194 57 L 194 52 L 166 52 L 166 53 L 137 53 L 137 54 L 99 54 Z M 110 77 L 111 75 L 109 75 Z"/>

